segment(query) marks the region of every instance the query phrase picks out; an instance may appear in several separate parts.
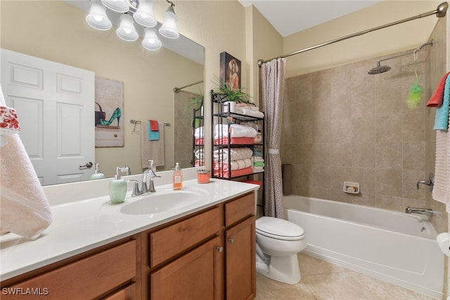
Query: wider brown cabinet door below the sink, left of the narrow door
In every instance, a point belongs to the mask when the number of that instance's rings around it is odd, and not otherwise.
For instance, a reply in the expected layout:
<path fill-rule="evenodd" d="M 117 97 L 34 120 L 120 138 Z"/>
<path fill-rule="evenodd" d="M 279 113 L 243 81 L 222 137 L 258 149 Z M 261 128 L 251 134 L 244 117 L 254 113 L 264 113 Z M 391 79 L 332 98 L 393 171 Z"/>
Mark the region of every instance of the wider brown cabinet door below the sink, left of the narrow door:
<path fill-rule="evenodd" d="M 150 274 L 150 299 L 221 299 L 220 238 L 215 237 Z"/>

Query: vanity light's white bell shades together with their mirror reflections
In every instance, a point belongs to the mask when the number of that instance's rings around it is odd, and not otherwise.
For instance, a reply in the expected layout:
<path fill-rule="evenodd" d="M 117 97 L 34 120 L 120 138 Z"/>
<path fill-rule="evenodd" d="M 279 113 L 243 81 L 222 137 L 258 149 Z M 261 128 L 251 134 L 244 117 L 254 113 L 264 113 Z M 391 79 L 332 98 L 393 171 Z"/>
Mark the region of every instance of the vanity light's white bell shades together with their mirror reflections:
<path fill-rule="evenodd" d="M 158 31 L 163 37 L 176 39 L 179 37 L 179 32 L 176 29 L 175 4 L 169 0 L 165 1 L 169 3 L 169 8 L 164 13 L 164 23 Z M 113 26 L 106 13 L 108 8 L 115 13 L 122 13 L 120 25 L 116 30 L 120 39 L 127 42 L 139 39 L 138 30 L 134 25 L 136 23 L 144 27 L 145 37 L 142 46 L 148 50 L 160 49 L 161 42 L 153 29 L 158 24 L 153 14 L 153 0 L 90 0 L 90 5 L 91 10 L 86 16 L 86 22 L 91 27 L 97 30 L 109 30 Z"/>

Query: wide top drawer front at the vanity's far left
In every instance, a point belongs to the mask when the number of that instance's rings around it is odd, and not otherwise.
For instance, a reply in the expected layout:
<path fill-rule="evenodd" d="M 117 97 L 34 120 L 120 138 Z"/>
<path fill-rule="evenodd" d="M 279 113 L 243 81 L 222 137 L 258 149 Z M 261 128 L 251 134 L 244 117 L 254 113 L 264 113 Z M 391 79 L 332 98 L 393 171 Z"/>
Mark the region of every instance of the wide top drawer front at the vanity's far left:
<path fill-rule="evenodd" d="M 136 240 L 132 240 L 8 288 L 44 292 L 46 299 L 93 299 L 135 276 Z"/>

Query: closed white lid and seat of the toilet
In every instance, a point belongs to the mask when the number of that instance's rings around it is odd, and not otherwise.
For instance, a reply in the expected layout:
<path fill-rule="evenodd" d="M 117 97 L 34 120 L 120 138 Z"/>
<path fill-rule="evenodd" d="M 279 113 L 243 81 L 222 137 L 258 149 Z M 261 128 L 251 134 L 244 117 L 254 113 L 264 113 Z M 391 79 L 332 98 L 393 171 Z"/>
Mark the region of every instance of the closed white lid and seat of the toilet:
<path fill-rule="evenodd" d="M 274 239 L 301 239 L 304 230 L 299 225 L 287 220 L 271 217 L 261 217 L 256 220 L 256 231 Z"/>

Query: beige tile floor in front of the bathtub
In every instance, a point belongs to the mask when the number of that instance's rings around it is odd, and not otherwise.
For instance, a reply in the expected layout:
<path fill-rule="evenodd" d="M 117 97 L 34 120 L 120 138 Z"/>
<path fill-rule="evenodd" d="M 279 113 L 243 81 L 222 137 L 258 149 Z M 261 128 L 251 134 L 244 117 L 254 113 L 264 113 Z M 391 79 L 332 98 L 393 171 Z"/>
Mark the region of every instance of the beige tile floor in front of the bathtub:
<path fill-rule="evenodd" d="M 257 274 L 256 300 L 434 299 L 305 254 L 299 254 L 299 264 L 302 280 L 297 285 Z"/>

